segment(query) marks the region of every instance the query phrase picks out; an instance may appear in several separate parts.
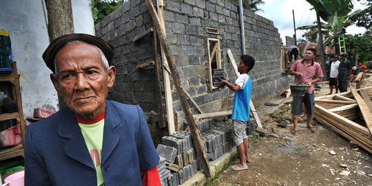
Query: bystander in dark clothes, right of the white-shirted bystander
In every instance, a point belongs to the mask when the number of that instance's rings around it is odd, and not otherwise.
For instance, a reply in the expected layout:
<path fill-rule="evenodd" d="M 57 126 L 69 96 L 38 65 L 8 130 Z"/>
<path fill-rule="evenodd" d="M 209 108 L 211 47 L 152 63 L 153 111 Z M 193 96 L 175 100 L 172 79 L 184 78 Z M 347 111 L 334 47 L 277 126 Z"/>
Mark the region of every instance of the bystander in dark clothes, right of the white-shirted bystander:
<path fill-rule="evenodd" d="M 340 65 L 338 67 L 338 90 L 347 92 L 349 85 L 349 75 L 351 74 L 352 64 L 347 60 L 347 54 L 340 54 Z"/>

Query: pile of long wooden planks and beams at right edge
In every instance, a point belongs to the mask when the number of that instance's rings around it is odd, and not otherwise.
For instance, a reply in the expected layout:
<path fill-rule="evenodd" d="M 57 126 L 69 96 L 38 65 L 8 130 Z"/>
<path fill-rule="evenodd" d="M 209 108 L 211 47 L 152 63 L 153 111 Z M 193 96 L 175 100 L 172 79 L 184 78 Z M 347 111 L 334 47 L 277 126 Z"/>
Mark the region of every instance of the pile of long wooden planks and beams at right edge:
<path fill-rule="evenodd" d="M 315 117 L 372 153 L 372 86 L 316 97 Z"/>

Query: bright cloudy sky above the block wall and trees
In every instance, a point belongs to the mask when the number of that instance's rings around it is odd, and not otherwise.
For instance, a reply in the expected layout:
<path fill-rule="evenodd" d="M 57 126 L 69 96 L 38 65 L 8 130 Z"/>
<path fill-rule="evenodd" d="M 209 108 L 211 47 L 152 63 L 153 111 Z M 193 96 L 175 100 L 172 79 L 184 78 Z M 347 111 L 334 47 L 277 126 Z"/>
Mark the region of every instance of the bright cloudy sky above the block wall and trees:
<path fill-rule="evenodd" d="M 353 0 L 353 11 L 365 8 L 362 1 Z M 256 14 L 273 21 L 274 26 L 279 30 L 282 41 L 285 41 L 285 36 L 292 37 L 294 34 L 292 10 L 294 10 L 296 28 L 302 25 L 311 25 L 316 21 L 316 12 L 310 10 L 312 6 L 306 0 L 265 0 L 265 4 L 259 7 L 263 12 L 256 12 Z M 364 28 L 358 28 L 355 25 L 347 28 L 347 34 L 358 34 L 364 31 Z M 303 31 L 297 30 L 296 34 L 299 38 Z"/>

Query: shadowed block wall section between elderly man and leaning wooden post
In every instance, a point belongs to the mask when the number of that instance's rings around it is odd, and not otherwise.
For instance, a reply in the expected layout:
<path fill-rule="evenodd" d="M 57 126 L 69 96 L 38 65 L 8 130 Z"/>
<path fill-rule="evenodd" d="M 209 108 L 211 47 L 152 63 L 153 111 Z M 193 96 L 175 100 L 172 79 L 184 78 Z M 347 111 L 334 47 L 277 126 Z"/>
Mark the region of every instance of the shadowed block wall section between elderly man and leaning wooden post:
<path fill-rule="evenodd" d="M 132 0 L 123 4 L 95 25 L 96 36 L 115 48 L 115 85 L 108 99 L 141 105 L 144 112 L 157 112 L 154 66 L 136 70 L 136 65 L 154 60 L 152 35 L 132 42 L 134 37 L 152 27 L 145 1 Z"/>

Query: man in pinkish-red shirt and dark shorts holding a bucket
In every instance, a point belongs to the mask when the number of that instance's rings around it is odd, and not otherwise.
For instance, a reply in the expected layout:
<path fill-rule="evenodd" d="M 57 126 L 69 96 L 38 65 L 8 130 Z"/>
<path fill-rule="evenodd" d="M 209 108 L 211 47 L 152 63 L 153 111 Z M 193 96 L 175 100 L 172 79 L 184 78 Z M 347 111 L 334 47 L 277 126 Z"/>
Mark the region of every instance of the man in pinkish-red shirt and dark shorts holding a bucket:
<path fill-rule="evenodd" d="M 304 59 L 296 61 L 289 74 L 295 76 L 294 83 L 305 83 L 308 85 L 304 96 L 293 96 L 292 101 L 292 118 L 293 118 L 293 130 L 291 134 L 298 135 L 298 116 L 302 114 L 302 103 L 306 107 L 307 111 L 307 128 L 311 132 L 316 132 L 316 128 L 313 127 L 314 117 L 314 85 L 316 82 L 321 81 L 323 77 L 322 67 L 319 63 L 315 62 L 316 50 L 310 48 L 305 52 Z"/>

